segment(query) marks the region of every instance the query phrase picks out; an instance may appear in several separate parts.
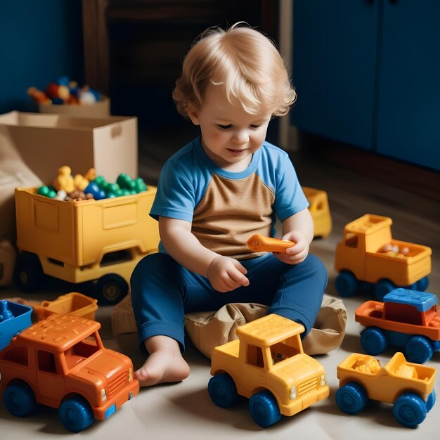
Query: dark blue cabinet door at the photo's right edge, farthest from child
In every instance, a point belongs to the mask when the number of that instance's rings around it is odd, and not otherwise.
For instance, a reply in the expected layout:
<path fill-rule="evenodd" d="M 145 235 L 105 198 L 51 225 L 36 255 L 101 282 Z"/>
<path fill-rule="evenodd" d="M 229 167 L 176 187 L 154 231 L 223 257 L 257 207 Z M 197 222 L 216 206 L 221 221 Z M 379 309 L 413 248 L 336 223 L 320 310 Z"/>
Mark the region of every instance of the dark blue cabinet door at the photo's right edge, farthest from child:
<path fill-rule="evenodd" d="M 440 1 L 384 0 L 377 153 L 440 169 Z"/>

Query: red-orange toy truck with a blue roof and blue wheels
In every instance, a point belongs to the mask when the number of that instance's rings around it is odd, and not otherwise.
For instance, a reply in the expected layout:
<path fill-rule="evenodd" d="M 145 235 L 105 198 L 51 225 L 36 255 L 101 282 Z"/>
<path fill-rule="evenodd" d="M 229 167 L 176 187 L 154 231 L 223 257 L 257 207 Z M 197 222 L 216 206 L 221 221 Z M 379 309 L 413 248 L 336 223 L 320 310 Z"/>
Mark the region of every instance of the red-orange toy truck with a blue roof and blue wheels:
<path fill-rule="evenodd" d="M 437 297 L 428 292 L 395 289 L 384 302 L 367 301 L 356 309 L 356 321 L 365 325 L 362 348 L 376 356 L 389 345 L 404 347 L 411 362 L 424 363 L 440 351 L 440 311 Z"/>

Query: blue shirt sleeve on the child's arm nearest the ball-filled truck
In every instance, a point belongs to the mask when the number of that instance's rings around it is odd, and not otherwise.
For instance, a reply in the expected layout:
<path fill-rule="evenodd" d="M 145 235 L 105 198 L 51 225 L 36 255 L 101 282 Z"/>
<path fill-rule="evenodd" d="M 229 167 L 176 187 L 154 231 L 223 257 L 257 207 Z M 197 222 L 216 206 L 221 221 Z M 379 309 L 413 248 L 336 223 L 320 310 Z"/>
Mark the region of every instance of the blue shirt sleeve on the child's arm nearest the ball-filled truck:
<path fill-rule="evenodd" d="M 193 184 L 176 160 L 165 162 L 160 172 L 157 193 L 150 216 L 171 217 L 185 221 L 193 221 L 195 194 Z"/>

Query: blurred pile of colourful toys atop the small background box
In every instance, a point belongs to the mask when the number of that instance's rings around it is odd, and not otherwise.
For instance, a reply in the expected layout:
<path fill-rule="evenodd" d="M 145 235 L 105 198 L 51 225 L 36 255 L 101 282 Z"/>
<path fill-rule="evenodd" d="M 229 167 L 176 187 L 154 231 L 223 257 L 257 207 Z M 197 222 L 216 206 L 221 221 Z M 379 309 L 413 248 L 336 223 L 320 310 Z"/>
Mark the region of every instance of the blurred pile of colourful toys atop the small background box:
<path fill-rule="evenodd" d="M 32 86 L 27 94 L 33 101 L 47 105 L 90 105 L 101 101 L 101 93 L 86 85 L 79 87 L 67 77 L 50 82 L 44 91 Z"/>

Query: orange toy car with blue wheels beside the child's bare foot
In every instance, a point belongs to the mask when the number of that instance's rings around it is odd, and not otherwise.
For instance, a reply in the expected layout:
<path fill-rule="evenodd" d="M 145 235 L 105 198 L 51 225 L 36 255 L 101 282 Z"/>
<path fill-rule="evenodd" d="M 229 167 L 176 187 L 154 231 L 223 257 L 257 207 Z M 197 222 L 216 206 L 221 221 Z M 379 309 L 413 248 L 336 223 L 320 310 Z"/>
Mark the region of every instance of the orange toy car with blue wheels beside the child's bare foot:
<path fill-rule="evenodd" d="M 43 403 L 58 408 L 63 425 L 79 432 L 136 396 L 131 360 L 103 347 L 100 327 L 55 313 L 13 337 L 0 351 L 6 409 L 23 417 Z"/>

